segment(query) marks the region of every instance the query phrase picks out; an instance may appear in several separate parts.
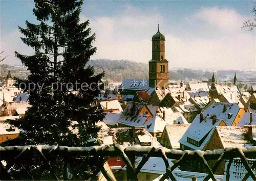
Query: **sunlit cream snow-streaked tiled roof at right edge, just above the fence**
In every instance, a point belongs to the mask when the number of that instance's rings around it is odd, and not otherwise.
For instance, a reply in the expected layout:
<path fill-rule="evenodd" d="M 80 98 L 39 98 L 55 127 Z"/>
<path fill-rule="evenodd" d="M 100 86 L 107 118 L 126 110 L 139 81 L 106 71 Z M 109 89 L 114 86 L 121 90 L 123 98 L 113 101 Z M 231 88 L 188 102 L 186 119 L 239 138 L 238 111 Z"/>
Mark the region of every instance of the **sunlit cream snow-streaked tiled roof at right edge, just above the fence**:
<path fill-rule="evenodd" d="M 256 125 L 252 126 L 252 138 L 256 139 Z M 247 138 L 249 126 L 218 126 L 217 132 L 223 147 L 254 146 Z"/>

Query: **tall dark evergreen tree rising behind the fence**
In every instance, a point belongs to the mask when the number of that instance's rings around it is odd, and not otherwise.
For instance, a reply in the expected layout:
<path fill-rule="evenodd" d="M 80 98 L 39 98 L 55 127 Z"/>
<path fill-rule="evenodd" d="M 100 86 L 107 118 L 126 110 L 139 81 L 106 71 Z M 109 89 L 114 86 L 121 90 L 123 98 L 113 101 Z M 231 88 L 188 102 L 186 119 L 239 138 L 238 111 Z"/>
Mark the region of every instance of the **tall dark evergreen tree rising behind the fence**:
<path fill-rule="evenodd" d="M 35 53 L 25 56 L 15 52 L 31 72 L 26 81 L 16 79 L 25 83 L 22 88 L 29 92 L 31 107 L 24 118 L 11 121 L 22 132 L 4 144 L 87 146 L 87 141 L 99 130 L 96 123 L 104 117 L 102 112 L 90 107 L 100 92 L 103 73 L 95 75 L 93 67 L 86 67 L 96 48 L 92 46 L 95 34 L 91 35 L 89 20 L 79 23 L 83 1 L 34 2 L 33 12 L 39 24 L 26 21 L 26 29 L 18 28 L 25 36 L 23 42 L 33 47 Z M 63 158 L 49 155 L 48 159 L 62 178 Z M 69 158 L 69 179 L 87 179 L 95 171 L 93 159 Z M 12 170 L 15 179 L 31 179 L 30 175 L 33 179 L 55 179 L 40 157 L 22 162 L 15 165 L 18 171 Z"/>

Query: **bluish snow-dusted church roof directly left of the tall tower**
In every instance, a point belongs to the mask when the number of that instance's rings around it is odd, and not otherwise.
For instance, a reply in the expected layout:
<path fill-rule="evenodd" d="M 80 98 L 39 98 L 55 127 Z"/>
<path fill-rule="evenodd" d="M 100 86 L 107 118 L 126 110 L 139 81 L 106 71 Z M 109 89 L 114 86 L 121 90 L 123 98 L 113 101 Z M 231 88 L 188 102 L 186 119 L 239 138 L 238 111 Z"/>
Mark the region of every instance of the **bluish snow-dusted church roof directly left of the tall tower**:
<path fill-rule="evenodd" d="M 119 89 L 127 90 L 148 90 L 148 80 L 146 79 L 124 79 Z"/>

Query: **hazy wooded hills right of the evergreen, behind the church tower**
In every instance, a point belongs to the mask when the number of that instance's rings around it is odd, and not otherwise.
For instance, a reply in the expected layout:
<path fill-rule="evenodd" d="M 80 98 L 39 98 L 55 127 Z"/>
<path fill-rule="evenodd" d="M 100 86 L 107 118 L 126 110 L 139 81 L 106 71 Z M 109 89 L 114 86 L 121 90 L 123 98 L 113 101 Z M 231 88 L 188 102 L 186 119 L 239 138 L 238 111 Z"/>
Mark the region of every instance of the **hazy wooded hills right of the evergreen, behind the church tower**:
<path fill-rule="evenodd" d="M 121 82 L 123 79 L 148 79 L 148 64 L 137 63 L 127 60 L 91 60 L 95 72 L 105 71 L 105 79 Z M 256 79 L 255 71 L 236 71 L 239 82 L 251 82 Z M 211 79 L 211 70 L 176 69 L 169 68 L 170 80 L 202 81 Z M 220 81 L 232 81 L 234 70 L 218 70 L 215 72 L 216 79 Z"/>

